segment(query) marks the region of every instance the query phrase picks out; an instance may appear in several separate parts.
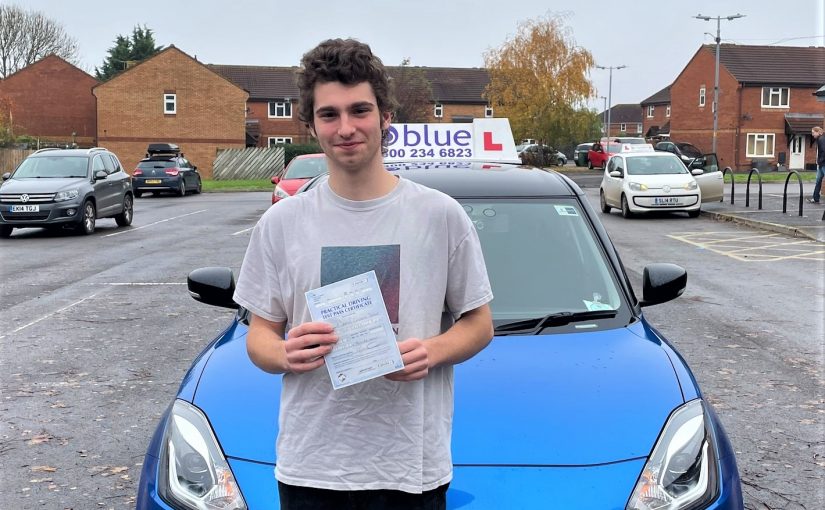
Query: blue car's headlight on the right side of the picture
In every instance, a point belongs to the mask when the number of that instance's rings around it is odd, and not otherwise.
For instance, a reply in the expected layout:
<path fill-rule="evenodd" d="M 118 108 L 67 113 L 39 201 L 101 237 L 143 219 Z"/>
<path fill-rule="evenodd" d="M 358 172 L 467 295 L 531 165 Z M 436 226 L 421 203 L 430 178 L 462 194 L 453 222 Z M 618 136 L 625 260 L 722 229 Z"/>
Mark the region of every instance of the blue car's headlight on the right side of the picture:
<path fill-rule="evenodd" d="M 668 419 L 627 510 L 704 508 L 719 495 L 716 446 L 701 400 Z"/>

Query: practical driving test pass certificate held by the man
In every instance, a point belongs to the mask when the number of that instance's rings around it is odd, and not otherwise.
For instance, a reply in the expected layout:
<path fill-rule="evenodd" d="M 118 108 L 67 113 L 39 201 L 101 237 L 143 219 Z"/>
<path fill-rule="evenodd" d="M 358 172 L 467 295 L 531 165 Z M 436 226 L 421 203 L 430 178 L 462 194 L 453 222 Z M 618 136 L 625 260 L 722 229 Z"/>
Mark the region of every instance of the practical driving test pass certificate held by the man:
<path fill-rule="evenodd" d="M 306 293 L 312 320 L 332 324 L 338 342 L 325 362 L 334 389 L 404 368 L 375 271 Z"/>

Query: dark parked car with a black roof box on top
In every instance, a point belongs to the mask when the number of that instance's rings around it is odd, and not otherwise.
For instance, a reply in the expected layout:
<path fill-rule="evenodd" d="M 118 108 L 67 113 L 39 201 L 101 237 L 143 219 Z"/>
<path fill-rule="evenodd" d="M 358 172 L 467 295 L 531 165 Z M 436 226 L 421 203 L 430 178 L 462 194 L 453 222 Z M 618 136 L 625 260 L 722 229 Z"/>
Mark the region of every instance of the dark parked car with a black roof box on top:
<path fill-rule="evenodd" d="M 135 196 L 144 192 L 157 195 L 162 192 L 180 196 L 188 192 L 200 193 L 201 175 L 198 167 L 187 160 L 180 147 L 173 143 L 150 143 L 146 157 L 140 160 L 132 174 Z"/>

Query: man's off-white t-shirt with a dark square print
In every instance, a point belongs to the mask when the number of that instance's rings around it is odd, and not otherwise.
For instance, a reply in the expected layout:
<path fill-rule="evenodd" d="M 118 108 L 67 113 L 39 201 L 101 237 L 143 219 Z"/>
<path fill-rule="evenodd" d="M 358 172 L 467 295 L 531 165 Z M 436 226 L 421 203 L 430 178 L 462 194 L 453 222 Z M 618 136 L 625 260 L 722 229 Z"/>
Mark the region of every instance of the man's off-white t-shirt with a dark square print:
<path fill-rule="evenodd" d="M 306 291 L 370 270 L 399 340 L 438 335 L 493 297 L 461 205 L 402 178 L 375 200 L 347 200 L 324 183 L 270 207 L 235 300 L 289 331 L 312 320 Z M 452 417 L 451 366 L 420 381 L 379 377 L 339 390 L 326 367 L 285 374 L 275 474 L 322 489 L 432 490 L 452 479 Z"/>

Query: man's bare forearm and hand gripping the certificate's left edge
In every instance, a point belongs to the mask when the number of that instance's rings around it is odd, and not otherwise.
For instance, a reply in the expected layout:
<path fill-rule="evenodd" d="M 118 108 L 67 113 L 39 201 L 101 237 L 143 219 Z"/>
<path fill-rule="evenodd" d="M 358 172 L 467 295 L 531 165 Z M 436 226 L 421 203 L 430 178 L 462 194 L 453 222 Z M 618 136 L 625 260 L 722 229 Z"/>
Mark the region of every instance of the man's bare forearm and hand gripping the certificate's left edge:
<path fill-rule="evenodd" d="M 273 322 L 250 313 L 246 351 L 258 368 L 272 374 L 302 373 L 324 364 L 338 337 L 324 322 L 307 322 L 289 330 L 286 322 Z"/>

